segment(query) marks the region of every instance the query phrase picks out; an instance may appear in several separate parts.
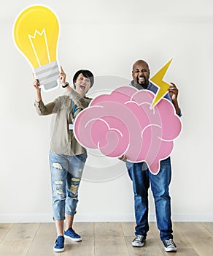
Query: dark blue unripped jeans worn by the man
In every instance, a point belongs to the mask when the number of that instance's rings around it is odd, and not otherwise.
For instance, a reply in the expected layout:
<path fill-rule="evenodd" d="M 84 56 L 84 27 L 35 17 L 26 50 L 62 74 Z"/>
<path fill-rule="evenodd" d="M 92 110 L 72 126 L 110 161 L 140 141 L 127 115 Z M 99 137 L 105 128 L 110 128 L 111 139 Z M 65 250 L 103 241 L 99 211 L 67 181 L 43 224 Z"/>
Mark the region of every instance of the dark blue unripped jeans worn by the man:
<path fill-rule="evenodd" d="M 135 234 L 147 236 L 148 223 L 148 189 L 151 184 L 155 200 L 155 214 L 160 230 L 160 239 L 173 238 L 171 224 L 171 203 L 169 184 L 171 181 L 170 157 L 160 161 L 160 172 L 157 175 L 150 173 L 145 162 L 126 162 L 128 174 L 133 181 L 134 206 L 136 227 Z"/>

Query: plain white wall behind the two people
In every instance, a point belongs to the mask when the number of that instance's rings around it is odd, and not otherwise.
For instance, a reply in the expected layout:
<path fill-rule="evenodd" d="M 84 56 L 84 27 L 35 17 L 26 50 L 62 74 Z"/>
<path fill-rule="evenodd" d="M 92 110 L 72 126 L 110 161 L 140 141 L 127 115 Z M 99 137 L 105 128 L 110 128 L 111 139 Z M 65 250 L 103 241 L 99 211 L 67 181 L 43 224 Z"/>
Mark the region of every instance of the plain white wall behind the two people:
<path fill-rule="evenodd" d="M 12 41 L 16 16 L 31 4 L 38 2 L 1 1 L 0 222 L 48 222 L 52 216 L 48 167 L 52 118 L 36 115 L 31 67 Z M 99 79 L 110 75 L 128 83 L 137 59 L 147 60 L 153 75 L 174 58 L 165 79 L 179 87 L 183 131 L 172 155 L 173 219 L 212 221 L 212 1 L 41 4 L 55 10 L 61 21 L 58 57 L 70 81 L 84 67 Z M 105 87 L 96 83 L 93 93 L 104 92 Z M 44 102 L 59 94 L 62 89 L 43 93 Z M 95 173 L 90 175 L 89 169 Z M 77 221 L 133 221 L 131 181 L 122 162 L 90 155 L 77 211 Z M 150 219 L 154 216 L 150 192 Z"/>

